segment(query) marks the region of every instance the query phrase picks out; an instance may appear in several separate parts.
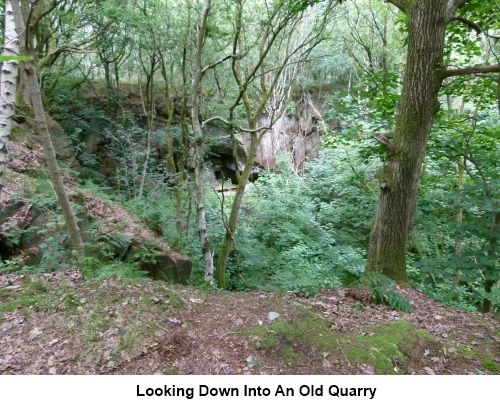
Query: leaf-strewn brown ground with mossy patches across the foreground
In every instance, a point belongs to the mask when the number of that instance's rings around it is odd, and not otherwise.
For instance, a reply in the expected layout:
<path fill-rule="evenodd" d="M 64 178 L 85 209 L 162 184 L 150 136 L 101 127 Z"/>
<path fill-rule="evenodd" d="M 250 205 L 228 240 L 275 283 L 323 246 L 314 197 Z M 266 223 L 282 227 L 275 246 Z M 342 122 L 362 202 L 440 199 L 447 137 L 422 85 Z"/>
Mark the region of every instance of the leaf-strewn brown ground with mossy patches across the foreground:
<path fill-rule="evenodd" d="M 500 318 L 402 290 L 201 291 L 74 269 L 0 276 L 2 374 L 499 374 Z"/>

